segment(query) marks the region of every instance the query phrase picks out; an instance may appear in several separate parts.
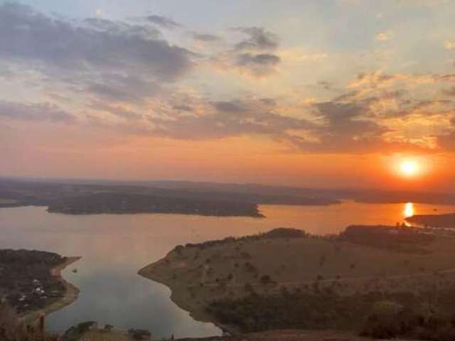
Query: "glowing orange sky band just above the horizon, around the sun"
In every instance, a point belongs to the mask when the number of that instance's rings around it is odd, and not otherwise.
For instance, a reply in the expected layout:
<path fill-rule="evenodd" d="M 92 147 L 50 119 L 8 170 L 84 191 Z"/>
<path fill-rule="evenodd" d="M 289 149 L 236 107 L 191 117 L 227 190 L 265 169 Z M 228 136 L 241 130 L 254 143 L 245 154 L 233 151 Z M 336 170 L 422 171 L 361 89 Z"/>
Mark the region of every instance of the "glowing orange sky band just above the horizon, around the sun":
<path fill-rule="evenodd" d="M 207 180 L 309 187 L 362 187 L 449 190 L 455 185 L 451 154 L 319 154 L 292 151 L 267 139 L 239 137 L 219 141 L 176 141 L 132 137 L 104 131 L 33 131 L 4 160 L 5 174 L 27 177 L 117 180 Z M 36 134 L 41 132 L 42 134 Z M 35 135 L 36 134 L 36 135 Z M 58 144 L 55 144 L 55 138 Z M 421 172 L 403 175 L 402 161 L 417 160 Z M 33 165 L 29 168 L 28 165 Z M 90 167 L 87 167 L 90 165 Z"/>

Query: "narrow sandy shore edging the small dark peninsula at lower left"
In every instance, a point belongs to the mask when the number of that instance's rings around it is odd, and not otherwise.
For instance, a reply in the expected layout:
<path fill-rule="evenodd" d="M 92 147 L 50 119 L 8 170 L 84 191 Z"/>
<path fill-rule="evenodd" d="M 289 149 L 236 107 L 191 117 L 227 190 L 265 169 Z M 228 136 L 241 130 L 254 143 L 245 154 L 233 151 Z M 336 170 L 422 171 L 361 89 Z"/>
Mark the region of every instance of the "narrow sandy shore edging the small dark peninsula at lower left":
<path fill-rule="evenodd" d="M 50 269 L 50 274 L 55 278 L 58 278 L 58 281 L 60 281 L 60 283 L 62 283 L 63 286 L 65 286 L 65 293 L 63 297 L 59 298 L 57 301 L 51 303 L 50 305 L 47 305 L 43 309 L 33 310 L 30 313 L 27 313 L 26 315 L 23 316 L 23 320 L 25 320 L 26 322 L 37 320 L 38 318 L 40 318 L 42 314 L 44 314 L 45 316 L 50 315 L 60 309 L 67 307 L 68 305 L 77 300 L 80 293 L 79 288 L 77 288 L 72 283 L 66 281 L 65 278 L 63 278 L 61 272 L 71 264 L 74 264 L 75 262 L 79 261 L 81 258 L 82 257 L 80 256 L 67 257 L 67 260 L 64 263 L 55 266 L 55 268 L 53 269 Z"/>

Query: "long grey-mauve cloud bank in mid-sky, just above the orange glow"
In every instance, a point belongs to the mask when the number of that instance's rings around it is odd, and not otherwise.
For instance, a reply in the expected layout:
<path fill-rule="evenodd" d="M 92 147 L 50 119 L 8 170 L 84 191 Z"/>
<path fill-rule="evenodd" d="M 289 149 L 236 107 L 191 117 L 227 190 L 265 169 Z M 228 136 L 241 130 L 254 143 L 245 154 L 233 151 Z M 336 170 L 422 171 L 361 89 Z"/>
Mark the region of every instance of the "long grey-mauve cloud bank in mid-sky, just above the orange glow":
<path fill-rule="evenodd" d="M 148 134 L 171 139 L 223 139 L 232 136 L 264 136 L 296 151 L 310 153 L 370 153 L 393 148 L 417 148 L 409 143 L 384 140 L 390 129 L 375 122 L 365 103 L 319 102 L 311 104 L 306 117 L 290 117 L 270 99 L 232 99 L 199 102 L 198 113 L 168 112 L 149 117 Z M 304 111 L 302 111 L 304 114 Z"/>

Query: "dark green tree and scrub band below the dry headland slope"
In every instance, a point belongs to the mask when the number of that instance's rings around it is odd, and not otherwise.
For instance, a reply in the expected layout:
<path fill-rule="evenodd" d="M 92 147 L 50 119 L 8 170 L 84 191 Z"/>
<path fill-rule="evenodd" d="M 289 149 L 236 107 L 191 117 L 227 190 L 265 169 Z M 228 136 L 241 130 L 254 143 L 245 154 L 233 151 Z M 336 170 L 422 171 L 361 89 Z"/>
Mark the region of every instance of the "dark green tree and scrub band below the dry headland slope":
<path fill-rule="evenodd" d="M 455 287 L 444 291 L 338 296 L 295 291 L 215 301 L 208 313 L 243 332 L 263 330 L 360 330 L 374 338 L 455 340 Z"/>

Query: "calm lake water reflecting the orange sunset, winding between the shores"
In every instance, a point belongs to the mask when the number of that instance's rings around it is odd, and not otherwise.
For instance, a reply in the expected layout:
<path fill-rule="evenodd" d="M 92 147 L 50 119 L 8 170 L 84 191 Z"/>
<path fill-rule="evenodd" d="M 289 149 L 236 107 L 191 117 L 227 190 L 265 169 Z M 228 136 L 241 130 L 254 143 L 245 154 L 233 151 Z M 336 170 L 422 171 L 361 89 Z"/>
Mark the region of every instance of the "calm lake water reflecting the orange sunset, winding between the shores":
<path fill-rule="evenodd" d="M 349 224 L 396 224 L 414 214 L 455 212 L 453 206 L 370 205 L 345 202 L 329 207 L 261 206 L 265 219 L 188 215 L 70 216 L 45 207 L 0 210 L 0 248 L 40 249 L 82 256 L 64 271 L 80 288 L 75 303 L 48 317 L 48 328 L 62 332 L 96 320 L 116 328 L 149 329 L 154 337 L 220 335 L 211 323 L 198 323 L 170 299 L 159 283 L 137 275 L 178 244 L 295 227 L 313 234 L 341 232 Z M 73 268 L 77 267 L 77 274 Z"/>

